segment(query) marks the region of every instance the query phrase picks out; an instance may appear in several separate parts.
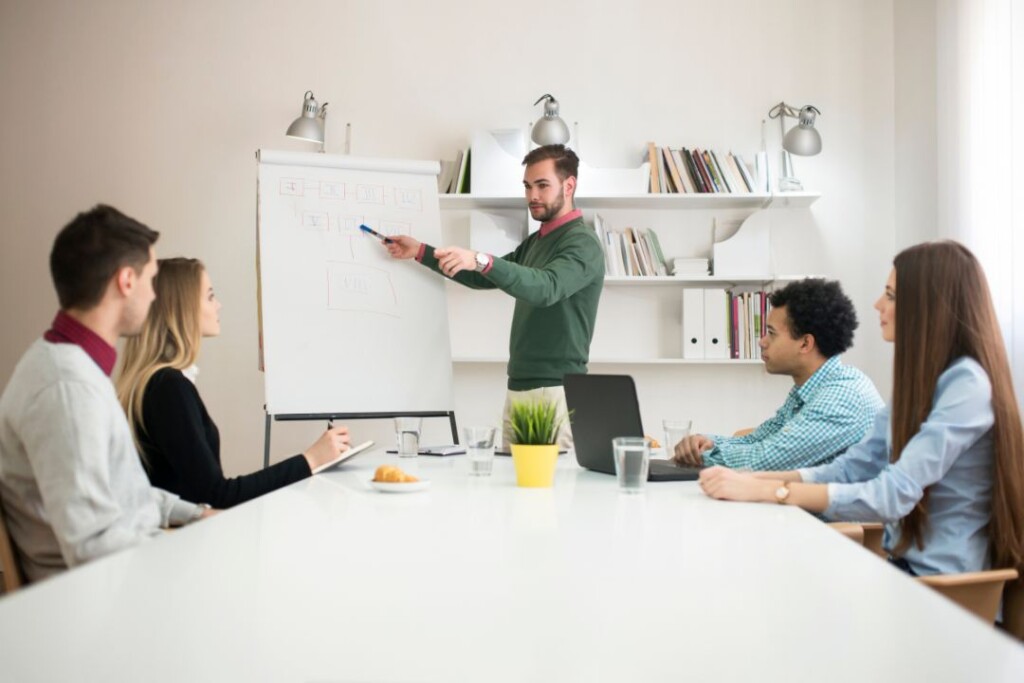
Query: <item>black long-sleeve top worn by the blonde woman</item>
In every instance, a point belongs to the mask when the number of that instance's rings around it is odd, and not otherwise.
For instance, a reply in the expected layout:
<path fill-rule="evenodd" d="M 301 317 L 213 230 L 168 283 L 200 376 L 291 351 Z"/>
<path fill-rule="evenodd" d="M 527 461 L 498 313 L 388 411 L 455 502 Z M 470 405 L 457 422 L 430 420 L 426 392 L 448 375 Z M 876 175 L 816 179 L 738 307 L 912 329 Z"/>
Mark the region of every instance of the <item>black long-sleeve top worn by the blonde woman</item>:
<path fill-rule="evenodd" d="M 196 385 L 179 370 L 165 368 L 150 380 L 142 426 L 138 440 L 150 481 L 186 501 L 229 508 L 310 475 L 298 455 L 252 474 L 224 477 L 220 432 Z"/>

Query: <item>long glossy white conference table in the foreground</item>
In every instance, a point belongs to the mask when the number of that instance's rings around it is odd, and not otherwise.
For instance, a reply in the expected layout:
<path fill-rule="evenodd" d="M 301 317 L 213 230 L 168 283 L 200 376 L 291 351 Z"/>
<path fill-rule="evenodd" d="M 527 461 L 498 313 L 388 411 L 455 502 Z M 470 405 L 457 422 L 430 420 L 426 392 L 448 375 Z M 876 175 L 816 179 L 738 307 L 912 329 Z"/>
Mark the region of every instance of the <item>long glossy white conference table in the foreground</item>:
<path fill-rule="evenodd" d="M 790 507 L 377 451 L 0 599 L 5 681 L 1016 681 L 1024 646 Z M 403 467 L 406 462 L 399 463 Z"/>

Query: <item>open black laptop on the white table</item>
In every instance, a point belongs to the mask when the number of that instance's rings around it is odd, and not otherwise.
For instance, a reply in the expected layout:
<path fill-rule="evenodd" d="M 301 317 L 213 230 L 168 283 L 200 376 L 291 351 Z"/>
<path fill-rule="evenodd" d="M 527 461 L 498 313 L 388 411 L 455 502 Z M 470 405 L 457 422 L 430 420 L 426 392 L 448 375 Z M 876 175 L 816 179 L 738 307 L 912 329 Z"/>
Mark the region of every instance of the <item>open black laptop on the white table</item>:
<path fill-rule="evenodd" d="M 564 384 L 577 462 L 595 472 L 614 474 L 611 439 L 644 435 L 633 378 L 629 375 L 566 375 Z M 666 444 L 666 447 L 672 445 Z M 701 469 L 651 459 L 647 480 L 692 481 Z"/>

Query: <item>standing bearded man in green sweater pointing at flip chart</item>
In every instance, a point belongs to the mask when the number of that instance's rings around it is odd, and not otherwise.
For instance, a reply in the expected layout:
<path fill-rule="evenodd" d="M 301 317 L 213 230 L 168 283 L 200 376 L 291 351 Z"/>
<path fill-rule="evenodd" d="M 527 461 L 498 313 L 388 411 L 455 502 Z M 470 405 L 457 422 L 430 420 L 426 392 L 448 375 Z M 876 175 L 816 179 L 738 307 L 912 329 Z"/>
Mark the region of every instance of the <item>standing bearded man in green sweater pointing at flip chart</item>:
<path fill-rule="evenodd" d="M 522 160 L 526 203 L 541 229 L 514 252 L 496 258 L 462 247 L 433 247 L 408 236 L 391 238 L 394 258 L 426 267 L 473 289 L 500 289 L 515 298 L 509 339 L 508 393 L 503 440 L 510 441 L 512 401 L 554 400 L 562 418 L 558 444 L 572 446 L 562 378 L 587 372 L 597 303 L 604 285 L 604 252 L 573 206 L 580 159 L 548 144 Z"/>

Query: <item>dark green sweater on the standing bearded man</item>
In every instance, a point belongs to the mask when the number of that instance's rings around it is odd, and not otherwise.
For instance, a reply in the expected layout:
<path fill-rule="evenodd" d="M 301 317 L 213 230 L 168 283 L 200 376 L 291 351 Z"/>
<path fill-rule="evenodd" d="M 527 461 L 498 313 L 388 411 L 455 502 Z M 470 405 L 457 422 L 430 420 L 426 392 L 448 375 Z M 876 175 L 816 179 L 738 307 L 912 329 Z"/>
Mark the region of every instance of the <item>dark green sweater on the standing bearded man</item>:
<path fill-rule="evenodd" d="M 422 263 L 440 272 L 429 245 Z M 535 232 L 511 254 L 495 258 L 486 274 L 462 271 L 455 281 L 473 289 L 500 289 L 515 297 L 509 389 L 560 386 L 566 373 L 587 372 L 604 285 L 604 253 L 583 218 L 546 237 Z"/>

